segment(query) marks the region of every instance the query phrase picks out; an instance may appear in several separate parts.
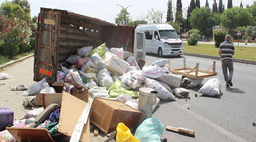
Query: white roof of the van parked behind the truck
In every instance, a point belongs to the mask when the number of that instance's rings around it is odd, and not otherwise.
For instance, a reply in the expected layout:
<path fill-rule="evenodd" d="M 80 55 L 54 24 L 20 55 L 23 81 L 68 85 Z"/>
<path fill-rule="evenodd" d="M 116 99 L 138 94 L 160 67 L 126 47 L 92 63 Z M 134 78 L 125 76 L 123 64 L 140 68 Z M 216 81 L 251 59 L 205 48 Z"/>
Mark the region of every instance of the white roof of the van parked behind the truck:
<path fill-rule="evenodd" d="M 170 24 L 167 23 L 159 23 L 155 24 L 152 22 L 148 22 L 147 24 L 139 24 L 137 26 L 138 30 L 150 30 L 150 29 L 158 29 L 158 30 L 175 30 Z"/>

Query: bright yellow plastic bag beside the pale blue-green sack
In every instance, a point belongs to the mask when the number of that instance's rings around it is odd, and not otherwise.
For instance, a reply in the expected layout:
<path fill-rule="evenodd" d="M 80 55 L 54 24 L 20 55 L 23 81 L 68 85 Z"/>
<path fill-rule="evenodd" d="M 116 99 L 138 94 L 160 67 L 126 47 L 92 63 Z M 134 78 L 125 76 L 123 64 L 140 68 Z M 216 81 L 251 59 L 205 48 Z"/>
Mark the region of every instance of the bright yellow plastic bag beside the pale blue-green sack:
<path fill-rule="evenodd" d="M 117 125 L 116 142 L 140 142 L 123 123 Z"/>

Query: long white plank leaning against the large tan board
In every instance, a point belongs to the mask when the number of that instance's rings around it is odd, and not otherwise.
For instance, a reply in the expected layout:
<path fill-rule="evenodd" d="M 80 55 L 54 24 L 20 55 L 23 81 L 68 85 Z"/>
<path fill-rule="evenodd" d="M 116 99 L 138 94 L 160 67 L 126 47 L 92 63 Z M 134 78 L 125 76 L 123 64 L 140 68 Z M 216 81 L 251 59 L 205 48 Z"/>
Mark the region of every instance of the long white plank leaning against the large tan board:
<path fill-rule="evenodd" d="M 87 103 L 84 108 L 84 111 L 82 112 L 78 122 L 75 125 L 75 129 L 70 138 L 70 142 L 79 142 L 82 130 L 89 117 L 90 109 L 91 109 L 91 103 Z"/>

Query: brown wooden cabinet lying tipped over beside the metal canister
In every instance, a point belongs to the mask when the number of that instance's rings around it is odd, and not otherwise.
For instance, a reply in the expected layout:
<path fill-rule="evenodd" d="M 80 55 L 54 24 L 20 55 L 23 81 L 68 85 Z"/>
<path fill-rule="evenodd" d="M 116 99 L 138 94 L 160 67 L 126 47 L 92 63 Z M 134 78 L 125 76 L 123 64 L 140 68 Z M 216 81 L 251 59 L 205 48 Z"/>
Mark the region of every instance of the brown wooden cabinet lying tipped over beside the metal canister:
<path fill-rule="evenodd" d="M 116 130 L 118 123 L 124 123 L 134 131 L 145 119 L 145 114 L 126 103 L 105 98 L 95 98 L 90 111 L 90 121 L 104 133 Z"/>

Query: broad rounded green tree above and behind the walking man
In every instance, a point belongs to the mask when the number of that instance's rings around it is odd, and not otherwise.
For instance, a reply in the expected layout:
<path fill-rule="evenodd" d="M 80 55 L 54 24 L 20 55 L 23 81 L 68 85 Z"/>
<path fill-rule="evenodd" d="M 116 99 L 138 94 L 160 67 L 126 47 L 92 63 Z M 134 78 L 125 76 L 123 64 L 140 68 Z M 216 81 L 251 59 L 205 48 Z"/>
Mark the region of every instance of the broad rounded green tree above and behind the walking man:
<path fill-rule="evenodd" d="M 229 29 L 235 29 L 238 26 L 254 26 L 252 13 L 249 9 L 243 9 L 239 7 L 232 7 L 223 11 L 220 16 L 221 26 L 228 27 Z"/>

